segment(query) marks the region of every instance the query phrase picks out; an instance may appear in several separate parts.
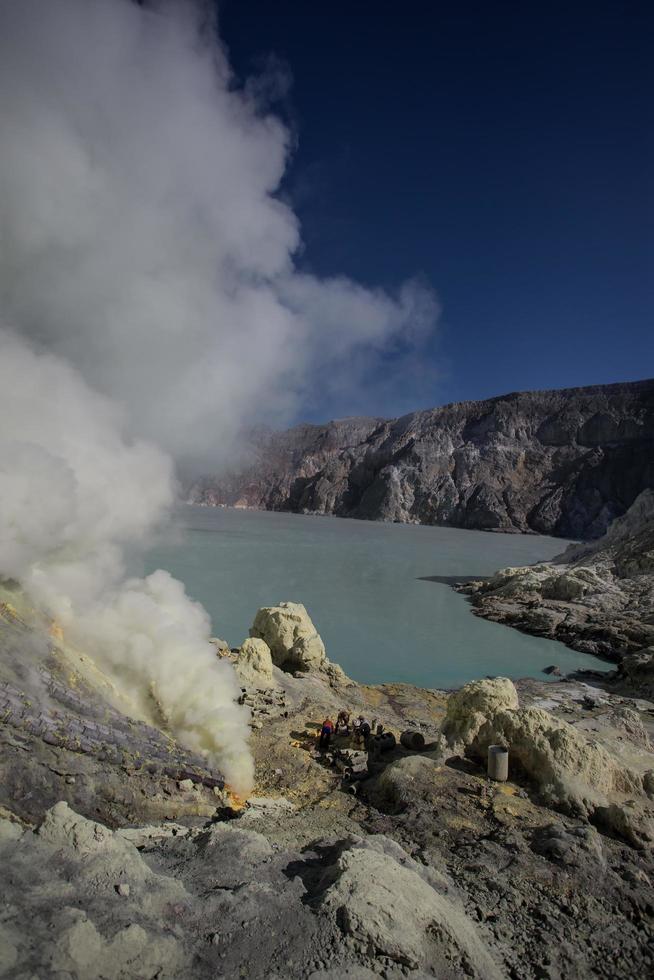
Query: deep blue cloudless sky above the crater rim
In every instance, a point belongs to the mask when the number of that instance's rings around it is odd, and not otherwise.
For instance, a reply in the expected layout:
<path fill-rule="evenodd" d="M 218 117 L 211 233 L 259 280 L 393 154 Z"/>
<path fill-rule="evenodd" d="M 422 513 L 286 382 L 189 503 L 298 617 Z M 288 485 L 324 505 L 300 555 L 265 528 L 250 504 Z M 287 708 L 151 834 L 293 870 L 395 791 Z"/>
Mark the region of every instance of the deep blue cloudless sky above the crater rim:
<path fill-rule="evenodd" d="M 300 267 L 440 297 L 422 380 L 367 411 L 654 374 L 653 29 L 645 3 L 220 4 L 238 75 L 292 76 Z"/>

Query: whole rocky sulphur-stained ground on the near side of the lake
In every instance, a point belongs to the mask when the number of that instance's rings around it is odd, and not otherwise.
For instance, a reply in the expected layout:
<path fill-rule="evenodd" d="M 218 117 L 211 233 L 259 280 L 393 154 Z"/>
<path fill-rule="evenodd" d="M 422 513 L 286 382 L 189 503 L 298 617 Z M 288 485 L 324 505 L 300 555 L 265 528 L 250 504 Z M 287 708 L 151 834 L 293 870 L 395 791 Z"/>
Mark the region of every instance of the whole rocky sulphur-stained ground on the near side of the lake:
<path fill-rule="evenodd" d="M 302 607 L 263 610 L 257 643 L 217 641 L 252 708 L 244 804 L 122 715 L 92 663 L 14 598 L 0 616 L 0 975 L 654 971 L 650 702 L 567 680 L 358 685 Z M 423 750 L 372 752 L 345 780 L 316 743 L 342 706 L 421 732 Z M 498 740 L 507 783 L 485 775 Z"/>

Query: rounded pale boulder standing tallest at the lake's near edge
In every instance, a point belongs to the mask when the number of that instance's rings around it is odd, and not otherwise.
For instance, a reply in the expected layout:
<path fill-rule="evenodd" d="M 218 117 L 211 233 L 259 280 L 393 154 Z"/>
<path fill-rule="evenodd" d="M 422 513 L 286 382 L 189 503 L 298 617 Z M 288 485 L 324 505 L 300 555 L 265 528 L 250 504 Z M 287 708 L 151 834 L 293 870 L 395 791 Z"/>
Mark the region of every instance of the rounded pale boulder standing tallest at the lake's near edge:
<path fill-rule="evenodd" d="M 260 609 L 250 636 L 264 640 L 273 663 L 284 670 L 319 670 L 325 663 L 325 645 L 299 602 L 281 602 Z"/>

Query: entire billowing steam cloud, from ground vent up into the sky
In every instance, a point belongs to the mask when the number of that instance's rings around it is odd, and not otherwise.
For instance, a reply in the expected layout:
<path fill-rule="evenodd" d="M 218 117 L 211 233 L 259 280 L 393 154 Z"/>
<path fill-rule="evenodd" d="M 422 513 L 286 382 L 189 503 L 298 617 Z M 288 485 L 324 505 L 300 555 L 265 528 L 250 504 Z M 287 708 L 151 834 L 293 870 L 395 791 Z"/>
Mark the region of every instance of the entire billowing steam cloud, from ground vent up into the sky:
<path fill-rule="evenodd" d="M 205 614 L 163 572 L 122 581 L 125 542 L 173 497 L 153 444 L 215 464 L 362 350 L 424 335 L 437 304 L 295 271 L 288 134 L 193 11 L 0 0 L 0 574 L 243 787 Z"/>

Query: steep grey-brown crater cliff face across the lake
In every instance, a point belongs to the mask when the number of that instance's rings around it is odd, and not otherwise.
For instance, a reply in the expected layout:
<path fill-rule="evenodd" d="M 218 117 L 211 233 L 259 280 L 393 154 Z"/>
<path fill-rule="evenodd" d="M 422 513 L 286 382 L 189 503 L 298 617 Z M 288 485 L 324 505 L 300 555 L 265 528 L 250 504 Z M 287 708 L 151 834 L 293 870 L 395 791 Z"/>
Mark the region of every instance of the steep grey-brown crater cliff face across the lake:
<path fill-rule="evenodd" d="M 641 381 L 271 433 L 189 499 L 595 538 L 652 485 L 654 381 Z"/>

